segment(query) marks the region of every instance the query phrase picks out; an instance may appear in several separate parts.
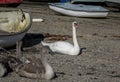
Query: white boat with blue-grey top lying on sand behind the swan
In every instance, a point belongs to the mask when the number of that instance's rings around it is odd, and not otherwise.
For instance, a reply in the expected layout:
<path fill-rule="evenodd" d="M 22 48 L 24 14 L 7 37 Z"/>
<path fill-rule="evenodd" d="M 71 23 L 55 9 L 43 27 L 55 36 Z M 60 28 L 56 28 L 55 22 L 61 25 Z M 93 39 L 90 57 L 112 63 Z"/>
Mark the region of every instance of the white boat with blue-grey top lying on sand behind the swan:
<path fill-rule="evenodd" d="M 49 8 L 61 14 L 76 17 L 106 17 L 108 15 L 108 10 L 101 6 L 50 3 Z"/>

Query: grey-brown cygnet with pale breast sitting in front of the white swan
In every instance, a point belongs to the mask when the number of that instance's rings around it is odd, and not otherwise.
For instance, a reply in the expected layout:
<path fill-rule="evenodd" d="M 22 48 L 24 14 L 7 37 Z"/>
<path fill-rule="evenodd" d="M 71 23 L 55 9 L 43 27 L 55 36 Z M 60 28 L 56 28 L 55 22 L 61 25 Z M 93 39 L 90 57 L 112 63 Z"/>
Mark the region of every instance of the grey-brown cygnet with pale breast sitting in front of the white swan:
<path fill-rule="evenodd" d="M 30 63 L 21 63 L 15 66 L 15 71 L 23 77 L 39 78 L 39 79 L 52 79 L 55 77 L 55 72 L 46 59 L 46 49 L 41 48 L 41 53 L 38 58 L 32 57 Z M 14 64 L 11 65 L 14 68 Z"/>

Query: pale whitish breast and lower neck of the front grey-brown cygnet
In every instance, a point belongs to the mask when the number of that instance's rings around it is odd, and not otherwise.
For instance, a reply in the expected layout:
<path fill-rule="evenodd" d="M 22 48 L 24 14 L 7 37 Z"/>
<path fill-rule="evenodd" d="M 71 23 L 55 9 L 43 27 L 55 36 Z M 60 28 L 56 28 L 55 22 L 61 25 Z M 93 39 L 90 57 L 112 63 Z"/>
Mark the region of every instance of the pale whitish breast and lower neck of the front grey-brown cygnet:
<path fill-rule="evenodd" d="M 55 75 L 53 68 L 48 64 L 46 59 L 43 61 L 43 65 L 45 66 L 45 78 L 52 79 Z"/>

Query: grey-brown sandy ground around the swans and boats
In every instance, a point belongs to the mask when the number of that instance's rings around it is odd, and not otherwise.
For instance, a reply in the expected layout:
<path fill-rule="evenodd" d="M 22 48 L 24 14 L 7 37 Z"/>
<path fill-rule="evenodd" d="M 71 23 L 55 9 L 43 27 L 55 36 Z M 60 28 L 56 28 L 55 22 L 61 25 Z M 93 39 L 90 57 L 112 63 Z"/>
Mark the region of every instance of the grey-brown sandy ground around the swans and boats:
<path fill-rule="evenodd" d="M 47 55 L 57 78 L 39 82 L 120 82 L 120 13 L 110 12 L 107 18 L 69 17 L 53 12 L 46 4 L 21 4 L 32 18 L 43 18 L 44 22 L 34 22 L 24 37 L 24 55 L 40 52 L 42 34 L 72 35 L 71 23 L 79 23 L 77 38 L 81 48 L 86 48 L 78 56 Z M 47 42 L 47 39 L 44 39 Z M 72 38 L 67 38 L 72 43 Z M 15 55 L 15 50 L 11 52 Z M 36 82 L 9 73 L 0 82 Z"/>

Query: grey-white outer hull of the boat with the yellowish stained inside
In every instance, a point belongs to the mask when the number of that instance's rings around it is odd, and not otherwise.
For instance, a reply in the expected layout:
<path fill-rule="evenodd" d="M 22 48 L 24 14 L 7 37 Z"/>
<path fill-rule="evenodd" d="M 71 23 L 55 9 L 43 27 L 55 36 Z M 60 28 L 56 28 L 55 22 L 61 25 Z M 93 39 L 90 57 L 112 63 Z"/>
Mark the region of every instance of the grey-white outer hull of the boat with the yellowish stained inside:
<path fill-rule="evenodd" d="M 29 13 L 24 12 L 24 14 L 26 14 L 27 17 L 29 18 L 29 22 L 26 24 L 25 29 L 15 33 L 4 33 L 4 31 L 3 32 L 0 31 L 0 47 L 2 48 L 11 47 L 15 45 L 17 41 L 23 39 L 27 31 L 30 29 L 32 22 Z"/>

